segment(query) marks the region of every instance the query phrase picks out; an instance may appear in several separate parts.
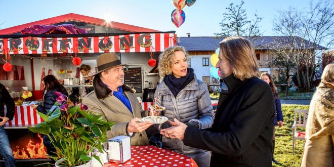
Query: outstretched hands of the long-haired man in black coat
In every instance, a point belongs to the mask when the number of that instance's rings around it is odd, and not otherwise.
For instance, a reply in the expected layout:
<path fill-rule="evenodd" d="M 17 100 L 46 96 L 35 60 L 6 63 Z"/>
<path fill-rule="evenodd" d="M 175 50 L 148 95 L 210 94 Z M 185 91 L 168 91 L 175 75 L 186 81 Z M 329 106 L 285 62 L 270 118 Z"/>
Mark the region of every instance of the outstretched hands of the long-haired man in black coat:
<path fill-rule="evenodd" d="M 160 134 L 164 135 L 166 137 L 169 137 L 171 139 L 183 140 L 184 132 L 186 131 L 186 128 L 188 126 L 186 124 L 180 122 L 176 118 L 174 118 L 174 122 L 171 121 L 171 120 L 169 120 L 169 122 L 174 127 L 160 130 Z"/>

